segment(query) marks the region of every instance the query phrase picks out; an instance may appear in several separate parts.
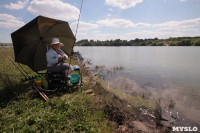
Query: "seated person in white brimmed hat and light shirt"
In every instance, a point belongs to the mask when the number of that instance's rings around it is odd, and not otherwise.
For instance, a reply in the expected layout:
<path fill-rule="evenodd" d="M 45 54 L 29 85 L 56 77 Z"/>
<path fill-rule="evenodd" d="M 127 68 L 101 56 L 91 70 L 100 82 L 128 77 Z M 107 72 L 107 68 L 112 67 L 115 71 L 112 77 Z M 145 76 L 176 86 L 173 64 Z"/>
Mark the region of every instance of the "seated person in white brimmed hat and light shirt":
<path fill-rule="evenodd" d="M 47 69 L 50 72 L 65 72 L 65 78 L 69 76 L 73 67 L 65 60 L 68 56 L 60 49 L 64 44 L 60 42 L 58 38 L 53 38 L 51 42 L 51 48 L 47 51 Z"/>

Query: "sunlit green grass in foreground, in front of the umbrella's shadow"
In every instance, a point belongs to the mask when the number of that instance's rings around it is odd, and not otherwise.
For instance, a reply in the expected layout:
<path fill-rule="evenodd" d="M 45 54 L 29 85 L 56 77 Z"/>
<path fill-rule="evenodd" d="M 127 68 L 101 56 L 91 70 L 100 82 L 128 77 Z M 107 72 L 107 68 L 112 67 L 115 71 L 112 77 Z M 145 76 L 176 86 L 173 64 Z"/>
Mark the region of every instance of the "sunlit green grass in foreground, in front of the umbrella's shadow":
<path fill-rule="evenodd" d="M 0 111 L 0 132 L 111 132 L 91 97 L 69 94 L 50 102 L 21 95 Z"/>

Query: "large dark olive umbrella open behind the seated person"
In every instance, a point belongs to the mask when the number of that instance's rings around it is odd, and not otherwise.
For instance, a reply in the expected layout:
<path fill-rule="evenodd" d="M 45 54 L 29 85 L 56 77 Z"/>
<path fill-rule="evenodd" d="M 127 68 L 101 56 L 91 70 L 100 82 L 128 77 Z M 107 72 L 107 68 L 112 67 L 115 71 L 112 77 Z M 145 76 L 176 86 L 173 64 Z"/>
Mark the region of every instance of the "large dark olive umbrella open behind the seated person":
<path fill-rule="evenodd" d="M 70 56 L 75 37 L 68 22 L 36 17 L 11 34 L 15 61 L 29 66 L 33 71 L 47 69 L 46 52 L 55 37 L 64 44 L 61 49 Z"/>

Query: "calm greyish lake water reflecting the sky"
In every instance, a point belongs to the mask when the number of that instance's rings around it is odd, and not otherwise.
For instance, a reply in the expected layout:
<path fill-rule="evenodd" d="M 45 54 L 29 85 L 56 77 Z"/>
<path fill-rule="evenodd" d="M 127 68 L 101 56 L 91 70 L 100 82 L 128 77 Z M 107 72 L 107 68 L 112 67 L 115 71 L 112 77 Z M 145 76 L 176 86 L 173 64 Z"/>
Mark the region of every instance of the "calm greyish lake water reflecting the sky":
<path fill-rule="evenodd" d="M 165 118 L 200 123 L 200 47 L 75 47 L 75 51 L 113 87 L 156 98 Z"/>

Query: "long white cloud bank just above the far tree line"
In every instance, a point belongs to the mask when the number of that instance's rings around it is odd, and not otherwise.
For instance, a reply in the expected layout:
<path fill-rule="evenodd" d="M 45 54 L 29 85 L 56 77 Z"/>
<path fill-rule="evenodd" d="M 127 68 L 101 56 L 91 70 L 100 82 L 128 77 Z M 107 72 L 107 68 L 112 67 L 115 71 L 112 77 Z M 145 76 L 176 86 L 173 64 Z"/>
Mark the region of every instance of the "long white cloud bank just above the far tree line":
<path fill-rule="evenodd" d="M 114 19 L 114 20 L 99 20 L 97 23 L 101 26 L 109 26 L 113 28 L 137 28 L 137 32 L 127 33 L 110 33 L 104 34 L 103 32 L 92 32 L 92 34 L 84 34 L 79 39 L 93 39 L 93 40 L 132 40 L 135 38 L 168 38 L 168 37 L 181 37 L 181 36 L 200 36 L 200 18 L 189 19 L 184 21 L 169 21 L 160 24 L 145 24 L 137 23 L 134 24 L 128 20 Z M 119 24 L 120 23 L 120 24 Z M 123 23 L 123 25 L 121 25 Z M 126 26 L 124 26 L 126 25 Z M 148 27 L 145 28 L 144 27 Z M 141 28 L 142 27 L 142 28 Z M 100 28 L 98 30 L 101 30 Z M 123 30 L 124 31 L 124 30 Z M 133 30 L 134 31 L 134 30 Z"/>

